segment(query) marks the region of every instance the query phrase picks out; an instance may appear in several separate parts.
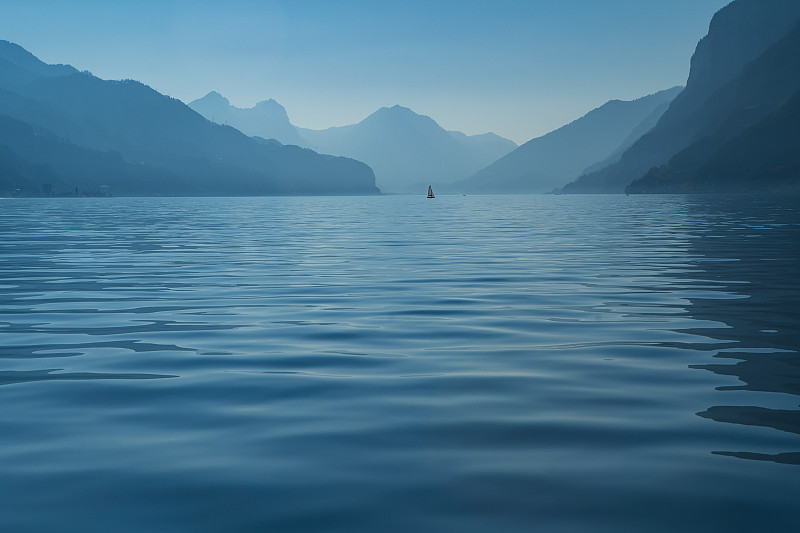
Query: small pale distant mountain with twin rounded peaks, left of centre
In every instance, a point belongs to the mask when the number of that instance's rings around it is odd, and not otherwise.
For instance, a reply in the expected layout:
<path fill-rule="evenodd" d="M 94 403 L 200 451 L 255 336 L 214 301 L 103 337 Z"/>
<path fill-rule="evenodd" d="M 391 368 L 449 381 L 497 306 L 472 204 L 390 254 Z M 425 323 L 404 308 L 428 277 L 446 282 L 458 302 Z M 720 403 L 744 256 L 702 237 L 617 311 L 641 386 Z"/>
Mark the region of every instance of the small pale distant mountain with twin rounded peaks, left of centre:
<path fill-rule="evenodd" d="M 308 148 L 305 139 L 289 122 L 286 109 L 275 100 L 264 100 L 254 107 L 242 109 L 231 105 L 227 98 L 212 91 L 189 107 L 217 124 L 227 124 L 237 130 L 264 139 L 275 139 L 283 144 L 294 144 Z"/>

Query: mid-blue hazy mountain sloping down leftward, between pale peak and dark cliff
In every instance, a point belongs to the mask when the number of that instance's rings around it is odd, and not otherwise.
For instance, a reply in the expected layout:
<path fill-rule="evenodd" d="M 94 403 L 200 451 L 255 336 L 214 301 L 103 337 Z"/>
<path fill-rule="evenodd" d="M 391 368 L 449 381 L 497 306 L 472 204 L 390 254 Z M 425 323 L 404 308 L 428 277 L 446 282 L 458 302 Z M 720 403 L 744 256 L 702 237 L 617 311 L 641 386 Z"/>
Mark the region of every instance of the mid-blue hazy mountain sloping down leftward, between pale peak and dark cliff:
<path fill-rule="evenodd" d="M 655 125 L 681 90 L 674 87 L 630 102 L 607 102 L 528 141 L 453 188 L 472 193 L 541 193 L 561 187 L 590 165 L 618 158 Z"/>

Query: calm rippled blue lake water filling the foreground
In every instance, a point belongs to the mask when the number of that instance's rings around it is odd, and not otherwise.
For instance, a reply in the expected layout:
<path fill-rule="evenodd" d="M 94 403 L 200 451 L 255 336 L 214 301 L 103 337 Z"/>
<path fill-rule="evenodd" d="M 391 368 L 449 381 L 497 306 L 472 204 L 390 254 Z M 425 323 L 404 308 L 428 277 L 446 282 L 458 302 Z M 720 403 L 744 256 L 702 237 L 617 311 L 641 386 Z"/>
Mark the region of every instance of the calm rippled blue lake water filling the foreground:
<path fill-rule="evenodd" d="M 800 201 L 0 200 L 0 530 L 796 531 Z"/>

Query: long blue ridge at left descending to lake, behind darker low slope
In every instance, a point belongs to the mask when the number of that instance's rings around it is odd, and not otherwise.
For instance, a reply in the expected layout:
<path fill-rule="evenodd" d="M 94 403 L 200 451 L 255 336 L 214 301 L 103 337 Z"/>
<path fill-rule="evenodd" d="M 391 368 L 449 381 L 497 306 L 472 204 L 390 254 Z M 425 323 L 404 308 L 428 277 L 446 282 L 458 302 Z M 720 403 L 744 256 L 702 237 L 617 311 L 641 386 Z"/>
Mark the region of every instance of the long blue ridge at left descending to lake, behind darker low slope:
<path fill-rule="evenodd" d="M 47 65 L 7 41 L 0 41 L 0 114 L 88 150 L 87 158 L 113 152 L 128 169 L 138 165 L 153 169 L 153 175 L 173 176 L 170 183 L 185 184 L 176 194 L 378 192 L 372 170 L 363 163 L 258 142 L 139 82 L 106 81 L 72 67 Z M 37 158 L 47 164 L 51 155 L 56 158 L 47 152 Z M 130 176 L 144 179 L 140 173 Z M 164 193 L 144 185 L 128 190 Z"/>

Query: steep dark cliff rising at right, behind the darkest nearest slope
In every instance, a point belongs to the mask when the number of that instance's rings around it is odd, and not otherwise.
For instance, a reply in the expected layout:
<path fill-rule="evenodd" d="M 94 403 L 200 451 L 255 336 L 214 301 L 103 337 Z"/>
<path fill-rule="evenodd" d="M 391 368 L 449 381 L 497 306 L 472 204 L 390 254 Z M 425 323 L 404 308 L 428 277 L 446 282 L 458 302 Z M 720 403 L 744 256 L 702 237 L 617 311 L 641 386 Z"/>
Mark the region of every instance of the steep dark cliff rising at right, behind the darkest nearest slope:
<path fill-rule="evenodd" d="M 602 170 L 581 176 L 565 192 L 622 192 L 650 169 L 667 163 L 693 143 L 719 131 L 728 116 L 720 90 L 738 78 L 746 65 L 786 36 L 800 20 L 796 0 L 736 0 L 714 15 L 709 32 L 692 57 L 686 89 L 658 124 L 620 158 Z M 749 115 L 753 124 L 775 107 Z"/>

